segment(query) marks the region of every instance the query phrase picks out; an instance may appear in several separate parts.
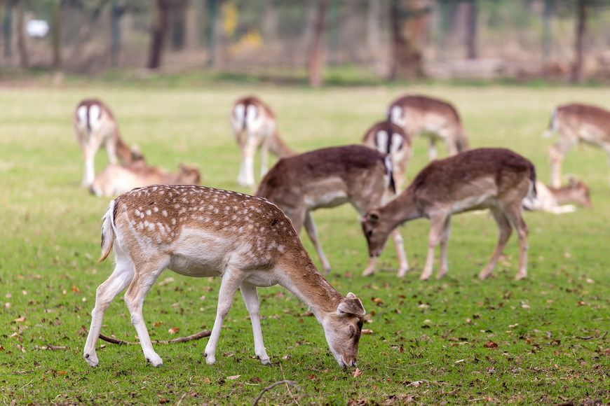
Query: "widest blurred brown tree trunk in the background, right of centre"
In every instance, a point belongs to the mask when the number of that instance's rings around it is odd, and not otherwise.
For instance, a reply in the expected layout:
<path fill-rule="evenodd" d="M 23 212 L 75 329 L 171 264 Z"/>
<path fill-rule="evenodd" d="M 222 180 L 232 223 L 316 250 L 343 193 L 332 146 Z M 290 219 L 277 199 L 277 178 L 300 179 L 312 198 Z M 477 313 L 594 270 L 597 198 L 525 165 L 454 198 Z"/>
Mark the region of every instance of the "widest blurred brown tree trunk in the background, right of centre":
<path fill-rule="evenodd" d="M 426 0 L 391 0 L 391 62 L 388 78 L 421 78 L 421 45 L 431 6 Z"/>

